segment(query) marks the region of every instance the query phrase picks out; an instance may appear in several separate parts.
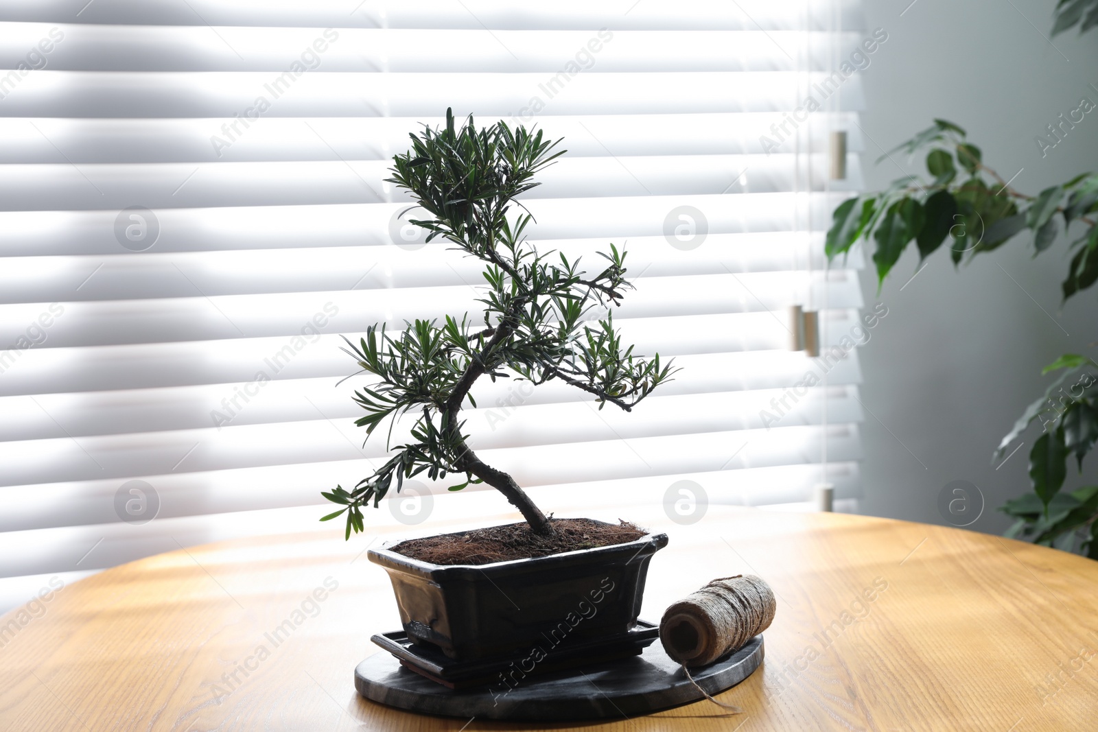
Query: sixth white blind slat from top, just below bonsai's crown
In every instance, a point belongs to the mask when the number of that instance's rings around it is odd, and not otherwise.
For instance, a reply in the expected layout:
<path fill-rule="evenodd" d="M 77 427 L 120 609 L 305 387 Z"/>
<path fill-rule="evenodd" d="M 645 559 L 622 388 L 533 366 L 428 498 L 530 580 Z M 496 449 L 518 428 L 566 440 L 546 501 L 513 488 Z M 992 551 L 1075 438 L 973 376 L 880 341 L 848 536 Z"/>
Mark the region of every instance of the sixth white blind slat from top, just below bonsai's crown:
<path fill-rule="evenodd" d="M 547 239 L 662 237 L 665 221 L 681 205 L 698 209 L 709 237 L 722 234 L 792 232 L 794 213 L 813 221 L 830 213 L 834 194 L 759 193 L 750 195 L 636 196 L 587 202 L 584 199 L 530 200 L 536 223 L 533 243 Z M 161 209 L 155 212 L 160 235 L 147 251 L 392 245 L 390 224 L 407 204 L 295 205 L 219 209 Z M 132 250 L 115 237 L 114 211 L 0 211 L 0 255 L 117 255 Z M 123 216 L 124 221 L 124 216 Z M 743 239 L 735 239 L 743 240 Z M 817 236 L 818 241 L 822 237 Z M 703 243 L 698 249 L 706 247 Z M 708 247 L 706 247 L 708 249 Z M 682 257 L 687 259 L 687 257 Z"/>

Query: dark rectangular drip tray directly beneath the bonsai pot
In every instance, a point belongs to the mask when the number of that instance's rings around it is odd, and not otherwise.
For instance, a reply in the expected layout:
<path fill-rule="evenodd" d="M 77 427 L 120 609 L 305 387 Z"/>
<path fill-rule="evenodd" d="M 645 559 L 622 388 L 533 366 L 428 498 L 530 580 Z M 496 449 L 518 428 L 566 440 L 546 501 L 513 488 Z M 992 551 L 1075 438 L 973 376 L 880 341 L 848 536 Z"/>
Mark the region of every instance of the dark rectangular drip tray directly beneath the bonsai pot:
<path fill-rule="evenodd" d="M 551 671 L 614 661 L 640 653 L 660 635 L 660 629 L 638 620 L 625 633 L 600 639 L 553 643 L 546 638 L 528 650 L 502 658 L 455 661 L 440 650 L 416 645 L 403 630 L 379 633 L 370 640 L 392 653 L 401 665 L 451 689 L 506 683 L 509 675 L 536 676 Z"/>

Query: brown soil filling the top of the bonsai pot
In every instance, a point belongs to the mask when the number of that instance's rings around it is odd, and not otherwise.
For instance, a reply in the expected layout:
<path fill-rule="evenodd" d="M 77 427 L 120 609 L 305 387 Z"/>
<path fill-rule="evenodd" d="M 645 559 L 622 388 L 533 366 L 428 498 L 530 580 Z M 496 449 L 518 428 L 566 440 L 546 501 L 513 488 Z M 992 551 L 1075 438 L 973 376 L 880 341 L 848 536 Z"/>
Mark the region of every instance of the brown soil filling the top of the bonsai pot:
<path fill-rule="evenodd" d="M 620 520 L 617 526 L 587 518 L 549 520 L 553 531 L 548 536 L 534 533 L 524 521 L 410 539 L 392 547 L 390 551 L 432 564 L 491 564 L 624 544 L 640 539 L 646 533 L 643 529 Z"/>

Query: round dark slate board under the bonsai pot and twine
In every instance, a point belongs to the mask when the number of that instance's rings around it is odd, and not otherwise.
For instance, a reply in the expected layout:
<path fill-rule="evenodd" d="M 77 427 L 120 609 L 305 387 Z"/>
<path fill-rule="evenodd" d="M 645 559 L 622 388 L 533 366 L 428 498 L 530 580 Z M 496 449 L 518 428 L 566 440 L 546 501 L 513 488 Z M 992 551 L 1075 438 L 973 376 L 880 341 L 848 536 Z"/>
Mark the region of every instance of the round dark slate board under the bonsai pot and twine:
<path fill-rule="evenodd" d="M 762 635 L 757 635 L 727 658 L 691 674 L 702 688 L 717 695 L 750 676 L 762 658 Z M 464 719 L 613 719 L 705 698 L 660 643 L 639 656 L 522 679 L 509 690 L 500 682 L 455 691 L 381 652 L 355 669 L 355 688 L 367 699 L 390 707 Z"/>

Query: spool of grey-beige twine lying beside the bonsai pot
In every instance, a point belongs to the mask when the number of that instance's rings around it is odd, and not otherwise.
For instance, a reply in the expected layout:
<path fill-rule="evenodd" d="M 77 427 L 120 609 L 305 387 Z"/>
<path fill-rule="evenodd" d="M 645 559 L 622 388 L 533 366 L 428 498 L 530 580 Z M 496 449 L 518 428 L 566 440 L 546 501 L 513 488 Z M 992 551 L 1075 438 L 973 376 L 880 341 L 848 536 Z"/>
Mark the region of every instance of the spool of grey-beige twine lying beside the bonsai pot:
<path fill-rule="evenodd" d="M 664 611 L 660 642 L 683 667 L 707 666 L 766 630 L 776 608 L 773 590 L 760 577 L 714 579 Z"/>

